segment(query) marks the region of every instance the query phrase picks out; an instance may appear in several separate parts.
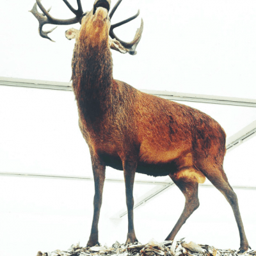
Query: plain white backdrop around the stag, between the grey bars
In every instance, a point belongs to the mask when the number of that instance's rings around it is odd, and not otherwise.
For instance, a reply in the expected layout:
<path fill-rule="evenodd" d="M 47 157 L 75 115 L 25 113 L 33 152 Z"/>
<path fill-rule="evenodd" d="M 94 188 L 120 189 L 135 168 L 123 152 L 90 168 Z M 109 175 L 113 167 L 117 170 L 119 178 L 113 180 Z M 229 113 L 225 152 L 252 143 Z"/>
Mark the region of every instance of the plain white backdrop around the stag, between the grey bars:
<path fill-rule="evenodd" d="M 44 0 L 56 18 L 72 17 L 62 1 Z M 70 1 L 76 6 L 76 1 Z M 28 10 L 34 1 L 2 1 L 0 10 L 0 76 L 68 82 L 74 40 L 59 26 L 50 37 L 38 35 Z M 90 10 L 93 1 L 82 1 Z M 112 6 L 114 5 L 114 1 Z M 136 88 L 256 98 L 255 1 L 124 0 L 113 23 L 140 8 L 144 31 L 138 54 L 113 52 L 114 77 Z M 140 19 L 116 29 L 132 40 Z M 45 30 L 52 26 L 45 26 Z M 227 137 L 256 119 L 255 108 L 186 103 L 211 115 Z M 0 171 L 91 176 L 90 155 L 77 125 L 72 92 L 0 86 Z M 225 172 L 230 184 L 255 186 L 256 138 L 228 153 Z M 108 177 L 121 178 L 111 170 Z M 137 175 L 136 179 L 149 179 Z M 164 180 L 166 177 L 154 179 Z M 92 221 L 93 182 L 0 177 L 0 253 L 36 255 L 72 243 L 85 246 Z M 135 200 L 152 186 L 136 185 Z M 124 184 L 106 183 L 100 216 L 100 243 L 125 242 L 127 216 L 111 220 L 125 207 Z M 219 248 L 239 248 L 230 206 L 216 189 L 200 188 L 200 208 L 177 238 Z M 244 228 L 256 248 L 255 191 L 236 191 Z M 163 241 L 179 218 L 184 197 L 172 188 L 134 211 L 141 243 Z"/>

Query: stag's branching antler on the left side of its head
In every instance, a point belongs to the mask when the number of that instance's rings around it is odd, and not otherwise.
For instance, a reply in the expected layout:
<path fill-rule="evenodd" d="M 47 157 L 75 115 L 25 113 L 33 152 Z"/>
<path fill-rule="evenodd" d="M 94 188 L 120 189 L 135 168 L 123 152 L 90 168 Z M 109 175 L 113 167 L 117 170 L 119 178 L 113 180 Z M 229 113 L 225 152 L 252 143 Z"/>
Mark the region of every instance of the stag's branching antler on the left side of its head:
<path fill-rule="evenodd" d="M 49 10 L 45 10 L 44 6 L 42 5 L 40 0 L 36 0 L 36 3 L 34 4 L 33 8 L 31 11 L 31 13 L 33 13 L 33 15 L 36 17 L 36 19 L 39 22 L 39 34 L 40 36 L 47 38 L 49 40 L 51 40 L 51 38 L 49 38 L 48 34 L 51 33 L 54 29 L 56 29 L 57 27 L 49 30 L 49 31 L 43 31 L 42 28 L 45 24 L 54 24 L 54 25 L 70 25 L 70 24 L 76 24 L 79 22 L 81 16 L 83 15 L 83 9 L 81 6 L 81 0 L 77 0 L 77 6 L 78 9 L 74 9 L 70 3 L 68 3 L 67 0 L 63 0 L 63 2 L 68 6 L 69 10 L 74 13 L 76 15 L 76 17 L 72 18 L 72 19 L 67 19 L 67 20 L 63 20 L 63 19 L 55 19 L 54 17 L 52 17 L 49 12 L 51 10 L 51 8 Z M 43 13 L 38 12 L 37 10 L 37 6 L 39 6 L 40 10 Z M 51 40 L 52 42 L 54 42 L 53 40 Z"/>

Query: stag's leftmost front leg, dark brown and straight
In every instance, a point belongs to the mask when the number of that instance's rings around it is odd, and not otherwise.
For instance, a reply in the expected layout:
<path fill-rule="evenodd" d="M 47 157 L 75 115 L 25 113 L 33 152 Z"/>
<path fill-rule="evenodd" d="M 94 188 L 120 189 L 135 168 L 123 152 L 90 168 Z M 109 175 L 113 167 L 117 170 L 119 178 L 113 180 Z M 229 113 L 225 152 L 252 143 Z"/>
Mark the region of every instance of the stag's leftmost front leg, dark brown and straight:
<path fill-rule="evenodd" d="M 100 207 L 102 204 L 102 192 L 105 180 L 106 166 L 102 164 L 100 159 L 92 156 L 92 169 L 94 177 L 94 200 L 93 200 L 93 220 L 92 220 L 92 229 L 89 241 L 87 246 L 94 246 L 99 244 L 99 232 L 98 232 L 98 223 L 100 217 Z"/>

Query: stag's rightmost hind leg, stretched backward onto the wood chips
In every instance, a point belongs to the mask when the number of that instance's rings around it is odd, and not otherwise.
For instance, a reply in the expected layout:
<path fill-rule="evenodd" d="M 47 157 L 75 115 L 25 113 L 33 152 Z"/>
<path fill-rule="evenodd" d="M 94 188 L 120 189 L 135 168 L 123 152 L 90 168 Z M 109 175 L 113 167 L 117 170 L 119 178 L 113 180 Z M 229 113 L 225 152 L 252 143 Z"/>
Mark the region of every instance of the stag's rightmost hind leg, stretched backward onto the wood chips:
<path fill-rule="evenodd" d="M 203 172 L 203 170 L 202 170 Z M 248 250 L 248 241 L 246 239 L 246 235 L 244 232 L 243 222 L 241 219 L 237 196 L 230 184 L 228 183 L 227 176 L 222 167 L 220 168 L 212 168 L 208 172 L 203 172 L 207 179 L 209 179 L 212 184 L 225 196 L 228 203 L 232 207 L 234 212 L 234 216 L 236 218 L 237 227 L 240 235 L 240 252 L 245 252 Z"/>

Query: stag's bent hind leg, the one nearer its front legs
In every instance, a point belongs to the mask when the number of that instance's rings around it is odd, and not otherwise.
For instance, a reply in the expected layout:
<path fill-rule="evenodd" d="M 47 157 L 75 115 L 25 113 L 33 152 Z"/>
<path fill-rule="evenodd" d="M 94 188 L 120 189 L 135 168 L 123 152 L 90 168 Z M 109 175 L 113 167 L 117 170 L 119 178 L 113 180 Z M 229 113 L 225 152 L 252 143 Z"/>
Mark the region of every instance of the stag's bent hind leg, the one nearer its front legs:
<path fill-rule="evenodd" d="M 179 177 L 178 175 L 170 175 L 173 182 L 178 186 L 185 196 L 185 207 L 180 215 L 179 220 L 173 227 L 172 232 L 166 237 L 166 241 L 173 240 L 179 232 L 182 225 L 188 220 L 189 216 L 199 207 L 198 200 L 198 180 L 193 177 Z"/>

